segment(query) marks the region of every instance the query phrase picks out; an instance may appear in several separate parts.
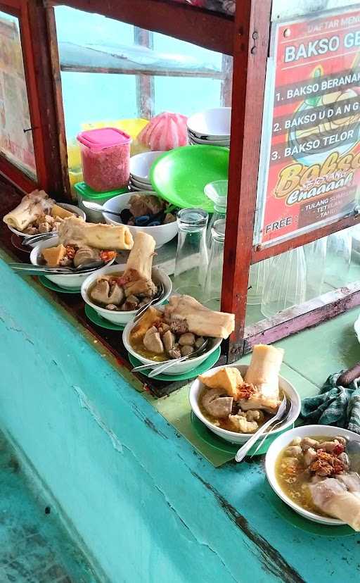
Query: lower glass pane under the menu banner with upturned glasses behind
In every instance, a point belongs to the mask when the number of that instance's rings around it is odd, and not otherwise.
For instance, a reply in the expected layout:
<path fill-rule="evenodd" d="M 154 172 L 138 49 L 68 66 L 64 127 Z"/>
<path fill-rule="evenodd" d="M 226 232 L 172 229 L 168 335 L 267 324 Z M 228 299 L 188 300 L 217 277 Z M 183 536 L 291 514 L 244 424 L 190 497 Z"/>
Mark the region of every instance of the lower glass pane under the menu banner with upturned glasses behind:
<path fill-rule="evenodd" d="M 252 265 L 246 323 L 360 282 L 360 225 Z"/>

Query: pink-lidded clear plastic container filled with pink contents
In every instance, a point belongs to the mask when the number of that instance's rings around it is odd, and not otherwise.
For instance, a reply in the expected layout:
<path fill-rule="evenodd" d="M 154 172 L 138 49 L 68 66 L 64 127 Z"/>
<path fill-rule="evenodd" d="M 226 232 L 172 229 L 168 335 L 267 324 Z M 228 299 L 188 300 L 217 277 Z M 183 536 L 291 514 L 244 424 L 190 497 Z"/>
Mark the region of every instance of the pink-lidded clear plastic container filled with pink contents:
<path fill-rule="evenodd" d="M 127 186 L 131 138 L 116 127 L 101 127 L 77 135 L 84 182 L 96 192 Z"/>

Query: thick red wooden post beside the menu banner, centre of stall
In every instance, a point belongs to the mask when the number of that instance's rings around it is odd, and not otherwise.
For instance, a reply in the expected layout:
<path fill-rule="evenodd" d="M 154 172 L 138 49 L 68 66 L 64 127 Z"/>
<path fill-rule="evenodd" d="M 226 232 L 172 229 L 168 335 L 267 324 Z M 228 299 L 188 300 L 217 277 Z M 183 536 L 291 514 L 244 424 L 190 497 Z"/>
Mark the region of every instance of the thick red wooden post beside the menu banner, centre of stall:
<path fill-rule="evenodd" d="M 228 359 L 243 351 L 271 0 L 236 6 L 229 193 L 221 309 L 236 315 Z"/>

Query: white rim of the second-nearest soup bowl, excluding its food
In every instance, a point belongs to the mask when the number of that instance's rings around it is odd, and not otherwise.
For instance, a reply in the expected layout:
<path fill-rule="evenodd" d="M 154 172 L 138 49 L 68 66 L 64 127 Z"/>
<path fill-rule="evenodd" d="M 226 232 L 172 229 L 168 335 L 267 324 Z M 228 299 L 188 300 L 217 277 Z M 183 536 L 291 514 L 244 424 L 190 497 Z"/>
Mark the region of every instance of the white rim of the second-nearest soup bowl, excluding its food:
<path fill-rule="evenodd" d="M 226 365 L 226 366 L 232 367 L 234 366 L 238 368 L 243 377 L 245 376 L 245 372 L 248 370 L 248 365 Z M 211 372 L 217 372 L 217 370 L 219 370 L 220 368 L 224 368 L 224 366 L 217 366 L 215 368 L 212 368 Z M 288 418 L 288 420 L 282 425 L 279 425 L 276 430 L 270 431 L 269 435 L 279 433 L 285 430 L 287 427 L 293 425 L 293 422 L 297 420 L 300 414 L 301 400 L 299 394 L 297 393 L 293 385 L 280 375 L 278 377 L 278 384 L 281 391 L 283 391 L 286 394 L 286 396 L 290 399 L 290 401 L 293 403 L 293 408 L 291 411 L 290 418 Z M 222 429 L 222 427 L 217 427 L 216 425 L 213 425 L 212 422 L 209 421 L 203 415 L 203 413 L 201 413 L 199 407 L 199 398 L 201 392 L 204 389 L 204 386 L 205 385 L 198 379 L 194 380 L 193 384 L 191 384 L 189 400 L 193 413 L 196 415 L 198 419 L 200 419 L 200 421 L 204 423 L 204 425 L 206 425 L 206 427 L 208 427 L 208 429 L 210 429 L 210 431 L 212 431 L 214 434 L 221 437 L 222 439 L 225 439 L 225 441 L 230 441 L 232 444 L 245 444 L 245 441 L 248 441 L 249 437 L 252 436 L 251 433 L 238 433 L 236 431 L 224 430 Z M 286 432 L 286 434 L 288 435 L 288 432 Z"/>

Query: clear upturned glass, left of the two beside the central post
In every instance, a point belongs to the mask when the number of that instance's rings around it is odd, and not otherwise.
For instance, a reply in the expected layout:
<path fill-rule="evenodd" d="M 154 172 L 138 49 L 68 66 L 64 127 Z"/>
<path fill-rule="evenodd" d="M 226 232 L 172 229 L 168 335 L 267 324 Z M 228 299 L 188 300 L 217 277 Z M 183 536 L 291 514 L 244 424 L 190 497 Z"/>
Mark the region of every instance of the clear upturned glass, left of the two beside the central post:
<path fill-rule="evenodd" d="M 206 227 L 209 215 L 202 208 L 183 208 L 177 213 L 179 227 L 174 272 L 174 292 L 204 301 L 208 255 Z"/>

